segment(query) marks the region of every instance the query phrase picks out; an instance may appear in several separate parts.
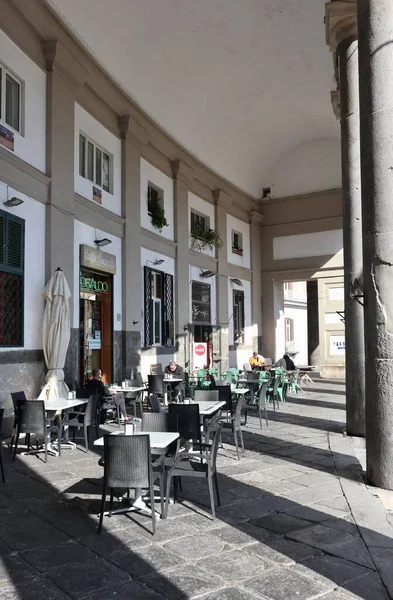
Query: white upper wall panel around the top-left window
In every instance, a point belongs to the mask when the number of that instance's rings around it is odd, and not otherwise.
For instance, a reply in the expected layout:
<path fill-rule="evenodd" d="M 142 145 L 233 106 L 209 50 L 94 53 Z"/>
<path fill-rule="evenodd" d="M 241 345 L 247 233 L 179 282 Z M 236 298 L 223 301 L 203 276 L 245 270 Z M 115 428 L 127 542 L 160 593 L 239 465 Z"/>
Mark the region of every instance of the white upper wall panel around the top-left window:
<path fill-rule="evenodd" d="M 0 30 L 0 61 L 21 80 L 23 87 L 22 135 L 13 132 L 13 153 L 45 173 L 46 73 L 24 54 L 2 30 Z M 1 123 L 13 131 L 5 122 L 1 121 Z M 12 151 L 9 150 L 9 152 Z"/>

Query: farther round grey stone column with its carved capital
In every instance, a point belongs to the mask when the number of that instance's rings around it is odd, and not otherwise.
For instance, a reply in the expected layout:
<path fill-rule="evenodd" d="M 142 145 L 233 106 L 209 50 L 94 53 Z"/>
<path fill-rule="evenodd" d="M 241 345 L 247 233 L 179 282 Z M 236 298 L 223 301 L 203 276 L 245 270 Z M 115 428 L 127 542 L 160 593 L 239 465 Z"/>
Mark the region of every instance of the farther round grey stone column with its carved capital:
<path fill-rule="evenodd" d="M 364 436 L 364 314 L 356 296 L 363 287 L 362 201 L 360 176 L 359 72 L 356 2 L 326 6 L 327 41 L 336 51 L 341 110 L 343 191 L 345 382 L 349 435 Z"/>

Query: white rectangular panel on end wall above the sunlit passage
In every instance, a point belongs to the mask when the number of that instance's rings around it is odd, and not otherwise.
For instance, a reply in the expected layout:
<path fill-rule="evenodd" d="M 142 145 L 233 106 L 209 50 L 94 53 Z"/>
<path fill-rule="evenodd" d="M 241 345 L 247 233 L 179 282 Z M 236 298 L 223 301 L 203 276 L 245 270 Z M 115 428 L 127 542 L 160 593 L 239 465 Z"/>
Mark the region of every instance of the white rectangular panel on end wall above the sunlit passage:
<path fill-rule="evenodd" d="M 273 238 L 273 259 L 335 256 L 343 252 L 342 229 Z"/>

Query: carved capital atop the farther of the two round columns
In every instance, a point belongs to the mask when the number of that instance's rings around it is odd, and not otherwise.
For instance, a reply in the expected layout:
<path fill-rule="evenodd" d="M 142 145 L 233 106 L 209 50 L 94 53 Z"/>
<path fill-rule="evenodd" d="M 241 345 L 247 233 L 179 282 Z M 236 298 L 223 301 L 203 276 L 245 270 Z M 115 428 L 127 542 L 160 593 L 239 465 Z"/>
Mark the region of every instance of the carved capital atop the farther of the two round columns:
<path fill-rule="evenodd" d="M 332 52 L 349 37 L 357 37 L 357 1 L 341 0 L 325 5 L 326 43 Z"/>

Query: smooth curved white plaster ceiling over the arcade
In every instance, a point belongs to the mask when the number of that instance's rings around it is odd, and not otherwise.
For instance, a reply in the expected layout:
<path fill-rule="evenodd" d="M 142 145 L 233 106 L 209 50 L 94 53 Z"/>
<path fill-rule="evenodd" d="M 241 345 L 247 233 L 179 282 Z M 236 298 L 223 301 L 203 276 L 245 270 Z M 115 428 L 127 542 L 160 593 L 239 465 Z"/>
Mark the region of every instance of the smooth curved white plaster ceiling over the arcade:
<path fill-rule="evenodd" d="M 162 128 L 255 197 L 283 156 L 339 137 L 325 0 L 48 2 Z"/>

